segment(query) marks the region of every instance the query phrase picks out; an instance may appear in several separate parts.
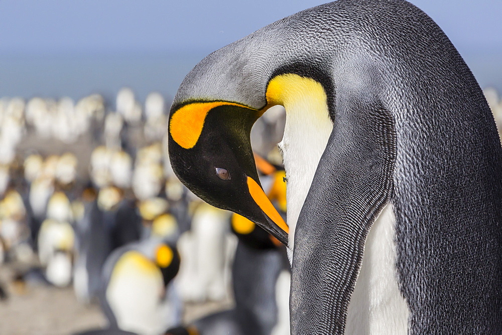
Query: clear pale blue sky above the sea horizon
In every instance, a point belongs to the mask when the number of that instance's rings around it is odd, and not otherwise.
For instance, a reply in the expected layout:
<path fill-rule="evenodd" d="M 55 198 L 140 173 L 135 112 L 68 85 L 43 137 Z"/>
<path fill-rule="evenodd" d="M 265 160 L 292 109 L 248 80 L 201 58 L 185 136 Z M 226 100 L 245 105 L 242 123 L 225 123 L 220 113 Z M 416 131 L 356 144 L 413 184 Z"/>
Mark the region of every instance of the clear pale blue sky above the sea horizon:
<path fill-rule="evenodd" d="M 169 53 L 222 47 L 324 1 L 2 0 L 4 55 Z M 414 0 L 457 48 L 502 48 L 502 1 Z"/>

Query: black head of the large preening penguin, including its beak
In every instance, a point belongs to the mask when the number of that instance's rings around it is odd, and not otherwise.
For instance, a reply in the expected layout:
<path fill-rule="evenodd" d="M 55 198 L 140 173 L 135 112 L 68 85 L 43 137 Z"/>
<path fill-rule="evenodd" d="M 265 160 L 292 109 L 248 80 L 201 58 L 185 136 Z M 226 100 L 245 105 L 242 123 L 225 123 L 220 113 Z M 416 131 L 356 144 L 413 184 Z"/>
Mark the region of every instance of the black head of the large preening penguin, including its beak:
<path fill-rule="evenodd" d="M 173 171 L 194 194 L 246 217 L 286 244 L 288 226 L 260 185 L 249 138 L 261 114 L 224 101 L 173 106 L 169 156 Z"/>

